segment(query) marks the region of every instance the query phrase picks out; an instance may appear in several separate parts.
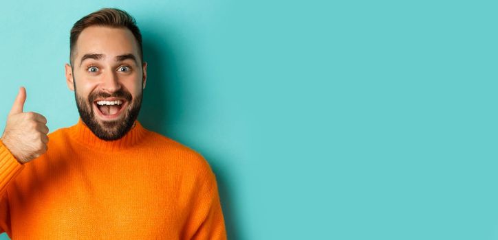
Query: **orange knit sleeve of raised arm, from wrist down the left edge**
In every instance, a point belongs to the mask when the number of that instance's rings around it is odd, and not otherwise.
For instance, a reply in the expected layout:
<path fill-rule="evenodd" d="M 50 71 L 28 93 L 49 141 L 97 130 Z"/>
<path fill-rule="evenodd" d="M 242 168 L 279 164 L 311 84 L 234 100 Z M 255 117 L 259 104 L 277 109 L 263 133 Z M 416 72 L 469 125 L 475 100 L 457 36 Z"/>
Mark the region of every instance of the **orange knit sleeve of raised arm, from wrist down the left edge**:
<path fill-rule="evenodd" d="M 10 211 L 8 209 L 7 187 L 21 172 L 25 165 L 21 164 L 6 145 L 0 141 L 0 233 L 10 232 Z"/>

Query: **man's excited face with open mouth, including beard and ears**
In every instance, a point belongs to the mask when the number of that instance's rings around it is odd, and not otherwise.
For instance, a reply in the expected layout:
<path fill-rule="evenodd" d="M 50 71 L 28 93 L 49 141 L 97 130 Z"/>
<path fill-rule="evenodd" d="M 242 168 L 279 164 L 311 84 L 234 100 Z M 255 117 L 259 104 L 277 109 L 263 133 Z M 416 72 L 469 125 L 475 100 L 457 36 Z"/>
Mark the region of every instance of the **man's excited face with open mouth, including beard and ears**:
<path fill-rule="evenodd" d="M 83 122 L 103 140 L 116 140 L 132 127 L 142 103 L 147 63 L 127 28 L 87 27 L 80 33 L 67 86 L 75 91 Z"/>

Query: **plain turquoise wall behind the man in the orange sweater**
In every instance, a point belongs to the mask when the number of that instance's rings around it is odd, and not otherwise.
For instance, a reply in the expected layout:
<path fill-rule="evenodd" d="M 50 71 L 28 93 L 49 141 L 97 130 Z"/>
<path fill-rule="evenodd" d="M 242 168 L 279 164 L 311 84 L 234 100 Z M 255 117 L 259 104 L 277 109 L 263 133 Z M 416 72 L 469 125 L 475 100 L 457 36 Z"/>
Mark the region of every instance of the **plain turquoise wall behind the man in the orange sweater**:
<path fill-rule="evenodd" d="M 76 123 L 69 29 L 102 7 L 137 19 L 139 119 L 208 160 L 229 239 L 498 239 L 497 1 L 6 1 L 2 132 L 21 85 Z"/>

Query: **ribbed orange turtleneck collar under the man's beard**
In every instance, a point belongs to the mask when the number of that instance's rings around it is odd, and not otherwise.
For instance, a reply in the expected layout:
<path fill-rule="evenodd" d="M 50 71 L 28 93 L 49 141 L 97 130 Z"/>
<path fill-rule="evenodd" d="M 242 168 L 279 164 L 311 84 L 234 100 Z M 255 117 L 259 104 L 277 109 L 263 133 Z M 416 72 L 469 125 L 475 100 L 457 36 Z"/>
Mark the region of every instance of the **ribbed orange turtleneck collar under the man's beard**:
<path fill-rule="evenodd" d="M 78 123 L 69 127 L 69 135 L 73 139 L 96 150 L 105 150 L 106 152 L 120 149 L 128 149 L 136 143 L 139 143 L 142 137 L 147 133 L 147 130 L 142 127 L 142 125 L 135 121 L 135 126 L 125 134 L 121 139 L 115 141 L 104 141 L 99 139 L 91 130 L 88 128 L 83 120 L 78 119 Z"/>

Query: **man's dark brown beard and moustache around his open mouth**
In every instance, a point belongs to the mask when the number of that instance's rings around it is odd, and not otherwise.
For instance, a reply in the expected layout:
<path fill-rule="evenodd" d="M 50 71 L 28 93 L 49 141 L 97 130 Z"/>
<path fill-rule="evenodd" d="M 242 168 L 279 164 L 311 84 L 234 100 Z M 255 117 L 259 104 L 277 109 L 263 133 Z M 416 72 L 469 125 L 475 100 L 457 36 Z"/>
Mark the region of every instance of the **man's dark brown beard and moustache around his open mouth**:
<path fill-rule="evenodd" d="M 142 93 L 138 95 L 135 99 L 131 96 L 131 93 L 120 88 L 112 94 L 94 92 L 90 93 L 87 99 L 78 95 L 76 91 L 76 84 L 74 88 L 74 97 L 76 98 L 76 106 L 78 106 L 78 112 L 80 112 L 80 117 L 83 123 L 85 123 L 88 128 L 93 132 L 99 139 L 104 141 L 114 141 L 121 139 L 125 134 L 131 130 L 135 120 L 138 117 L 138 112 L 140 112 L 140 107 L 142 106 Z M 127 109 L 122 113 L 124 117 L 113 121 L 98 121 L 94 112 L 94 101 L 98 97 L 122 97 L 128 101 Z"/>

